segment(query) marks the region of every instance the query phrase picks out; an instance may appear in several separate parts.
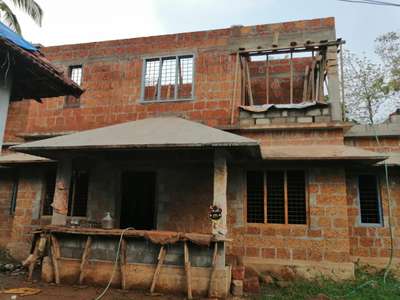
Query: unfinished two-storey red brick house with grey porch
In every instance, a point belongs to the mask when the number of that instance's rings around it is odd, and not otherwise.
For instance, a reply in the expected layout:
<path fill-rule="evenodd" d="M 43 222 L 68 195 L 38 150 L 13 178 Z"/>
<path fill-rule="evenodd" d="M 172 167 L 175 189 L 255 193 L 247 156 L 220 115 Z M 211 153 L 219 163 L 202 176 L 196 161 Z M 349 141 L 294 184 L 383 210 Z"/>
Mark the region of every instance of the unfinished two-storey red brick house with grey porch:
<path fill-rule="evenodd" d="M 189 297 L 225 296 L 232 257 L 397 265 L 399 118 L 343 121 L 342 43 L 325 18 L 42 48 L 85 93 L 11 104 L 0 245 L 25 258 L 51 235 L 48 280 L 105 285 L 133 227 L 113 284 Z"/>

